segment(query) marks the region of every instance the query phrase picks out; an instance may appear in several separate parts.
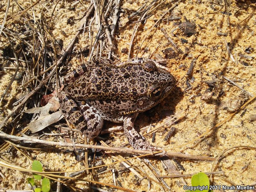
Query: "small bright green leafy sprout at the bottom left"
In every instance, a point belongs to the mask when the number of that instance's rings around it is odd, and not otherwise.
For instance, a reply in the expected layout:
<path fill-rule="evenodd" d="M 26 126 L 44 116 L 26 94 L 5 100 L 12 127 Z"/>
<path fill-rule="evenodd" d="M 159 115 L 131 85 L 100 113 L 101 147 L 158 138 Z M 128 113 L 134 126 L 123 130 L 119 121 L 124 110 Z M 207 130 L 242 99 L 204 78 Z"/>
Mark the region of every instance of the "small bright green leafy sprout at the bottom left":
<path fill-rule="evenodd" d="M 42 172 L 43 166 L 40 161 L 34 160 L 32 163 L 32 170 Z M 49 192 L 50 191 L 50 180 L 46 177 L 42 179 L 41 175 L 33 173 L 34 178 L 27 178 L 28 183 L 34 188 L 35 192 Z M 41 180 L 42 179 L 42 180 Z"/>

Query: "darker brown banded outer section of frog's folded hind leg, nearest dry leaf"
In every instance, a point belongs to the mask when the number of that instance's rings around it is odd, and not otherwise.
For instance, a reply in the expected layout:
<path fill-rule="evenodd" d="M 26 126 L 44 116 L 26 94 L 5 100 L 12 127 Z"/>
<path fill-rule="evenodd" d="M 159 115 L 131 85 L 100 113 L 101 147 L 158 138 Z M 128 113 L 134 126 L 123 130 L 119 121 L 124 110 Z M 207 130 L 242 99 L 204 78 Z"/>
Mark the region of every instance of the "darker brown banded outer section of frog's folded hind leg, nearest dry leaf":
<path fill-rule="evenodd" d="M 84 115 L 76 102 L 66 92 L 59 92 L 60 109 L 65 118 L 75 125 L 79 130 L 86 130 L 87 125 L 84 120 Z"/>

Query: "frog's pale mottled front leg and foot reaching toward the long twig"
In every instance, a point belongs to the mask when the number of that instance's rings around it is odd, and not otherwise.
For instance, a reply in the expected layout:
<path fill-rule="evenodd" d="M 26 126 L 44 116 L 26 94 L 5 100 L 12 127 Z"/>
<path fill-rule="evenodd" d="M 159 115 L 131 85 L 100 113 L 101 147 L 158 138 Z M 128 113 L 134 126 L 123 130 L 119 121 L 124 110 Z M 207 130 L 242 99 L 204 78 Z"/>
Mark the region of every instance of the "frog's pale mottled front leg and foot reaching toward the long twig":
<path fill-rule="evenodd" d="M 159 148 L 151 146 L 148 141 L 134 129 L 133 124 L 136 117 L 137 115 L 124 119 L 124 133 L 130 145 L 135 149 L 158 151 Z"/>

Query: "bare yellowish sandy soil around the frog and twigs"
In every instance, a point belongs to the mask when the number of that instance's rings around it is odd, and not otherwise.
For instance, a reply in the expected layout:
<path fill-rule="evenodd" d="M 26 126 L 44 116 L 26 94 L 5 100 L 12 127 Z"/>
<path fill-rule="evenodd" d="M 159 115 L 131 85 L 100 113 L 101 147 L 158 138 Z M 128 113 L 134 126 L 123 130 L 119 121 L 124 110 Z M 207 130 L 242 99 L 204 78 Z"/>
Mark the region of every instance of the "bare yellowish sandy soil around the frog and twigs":
<path fill-rule="evenodd" d="M 23 7 L 28 7 L 30 2 L 19 0 Z M 62 39 L 63 47 L 67 46 L 79 28 L 80 23 L 76 21 L 73 25 L 67 24 L 67 20 L 70 17 L 74 19 L 81 18 L 84 14 L 84 8 L 82 4 L 77 4 L 75 9 L 71 9 L 71 1 L 60 1 L 54 12 L 53 21 L 51 23 L 51 35 L 53 38 Z M 216 1 L 217 4 L 223 4 L 222 1 Z M 166 122 L 170 116 L 179 113 L 184 110 L 182 115 L 178 116 L 176 123 L 168 126 L 165 125 L 157 131 L 155 142 L 152 143 L 152 135 L 148 138 L 150 143 L 156 146 L 170 149 L 175 146 L 182 145 L 189 140 L 196 138 L 208 129 L 212 128 L 215 124 L 224 120 L 230 112 L 225 108 L 224 103 L 229 99 L 238 97 L 241 90 L 222 78 L 222 75 L 229 79 L 236 81 L 241 87 L 252 95 L 256 94 L 256 36 L 255 25 L 256 16 L 255 7 L 237 7 L 242 4 L 252 4 L 252 1 L 240 2 L 236 0 L 228 1 L 229 12 L 231 13 L 230 26 L 227 25 L 227 14 L 221 13 L 225 11 L 223 8 L 221 12 L 216 14 L 207 14 L 215 12 L 221 8 L 220 5 L 212 4 L 206 0 L 186 0 L 180 2 L 173 11 L 167 13 L 164 17 L 165 20 L 159 22 L 156 27 L 150 32 L 145 42 L 142 44 L 141 50 L 138 53 L 138 57 L 149 57 L 152 53 L 152 59 L 157 59 L 156 54 L 160 54 L 164 58 L 162 50 L 166 48 L 173 48 L 168 43 L 167 38 L 160 30 L 164 28 L 167 34 L 172 40 L 185 52 L 188 48 L 190 51 L 187 56 L 178 56 L 177 58 L 168 59 L 166 66 L 171 69 L 172 74 L 176 77 L 178 83 L 173 92 L 158 106 L 150 109 L 147 112 L 141 113 L 136 122 L 135 127 L 143 130 L 148 129 L 150 125 L 158 126 L 161 123 Z M 255 1 L 254 1 L 255 3 Z M 8 15 L 17 13 L 17 5 L 15 3 L 13 7 L 13 13 L 10 11 Z M 56 1 L 42 3 L 37 5 L 33 10 L 36 18 L 40 18 L 41 11 L 43 10 L 43 4 L 47 6 L 49 10 L 53 10 Z M 85 6 L 88 3 L 84 2 Z M 123 25 L 127 20 L 127 16 L 132 12 L 135 12 L 144 1 L 131 1 L 124 0 L 122 2 L 122 12 L 120 17 L 120 24 Z M 11 3 L 12 5 L 12 3 Z M 210 6 L 212 5 L 212 7 Z M 164 4 L 158 7 L 154 15 L 151 16 L 144 25 L 141 25 L 134 38 L 131 58 L 136 56 L 138 46 L 140 46 L 144 37 L 148 34 L 149 29 L 154 25 L 154 20 L 157 20 L 163 14 L 163 11 L 168 10 L 172 6 L 171 1 L 166 1 Z M 213 10 L 214 8 L 215 10 Z M 6 1 L 0 2 L 0 23 L 4 18 L 4 12 L 6 10 Z M 32 11 L 29 11 L 32 14 Z M 46 18 L 51 16 L 51 12 L 44 9 L 44 16 Z M 192 36 L 184 36 L 183 31 L 177 28 L 177 22 L 185 22 L 184 16 L 193 23 L 196 28 L 196 34 Z M 249 17 L 248 17 L 249 16 Z M 166 21 L 167 17 L 181 17 L 179 21 Z M 248 17 L 248 18 L 247 18 Z M 247 18 L 247 19 L 246 19 Z M 246 19 L 246 20 L 244 20 Z M 244 21 L 243 21 L 244 20 Z M 243 22 L 242 22 L 243 21 Z M 179 24 L 179 23 L 178 23 Z M 238 25 L 237 25 L 238 24 Z M 21 23 L 17 22 L 15 27 L 20 28 Z M 118 30 L 118 38 L 116 36 L 115 45 L 117 50 L 115 54 L 121 61 L 127 60 L 127 53 L 121 52 L 122 49 L 129 49 L 132 31 L 135 24 L 126 25 Z M 200 27 L 199 27 L 200 26 Z M 13 29 L 15 29 L 13 27 Z M 176 28 L 176 30 L 174 30 Z M 172 36 L 171 32 L 176 36 Z M 230 33 L 229 31 L 232 30 Z M 217 33 L 226 33 L 226 36 L 218 35 Z M 179 38 L 183 38 L 188 42 L 182 44 Z M 7 39 L 3 36 L 0 37 L 1 48 L 0 56 L 4 56 L 4 44 L 7 44 Z M 228 43 L 231 53 L 234 57 L 234 61 L 231 60 L 225 42 Z M 85 47 L 89 45 L 88 36 L 79 36 L 78 43 Z M 245 52 L 248 47 L 252 48 L 251 52 Z M 253 51 L 254 49 L 254 51 Z M 243 55 L 251 56 L 253 58 L 245 58 Z M 88 57 L 87 57 L 88 58 Z M 85 57 L 86 59 L 86 57 Z M 192 60 L 195 59 L 194 68 L 191 74 L 186 75 L 188 68 Z M 0 60 L 0 94 L 4 92 L 9 84 L 14 70 L 3 70 L 4 66 L 13 67 L 7 60 Z M 79 65 L 80 59 L 74 56 L 71 59 L 72 68 Z M 246 66 L 248 65 L 248 66 Z M 2 71 L 3 70 L 3 71 Z M 22 78 L 21 78 L 22 79 Z M 215 87 L 212 92 L 212 96 L 209 100 L 201 100 L 201 95 L 209 86 L 202 81 L 216 81 Z M 21 84 L 21 80 L 17 79 L 13 82 L 11 88 L 4 96 L 4 100 L 1 103 L 0 108 L 0 120 L 2 120 L 12 110 L 12 103 L 26 94 L 18 90 L 17 87 Z M 201 88 L 201 89 L 199 89 Z M 239 111 L 234 117 L 222 124 L 220 127 L 214 129 L 210 134 L 197 140 L 193 144 L 186 146 L 185 148 L 176 148 L 175 152 L 182 152 L 185 154 L 201 155 L 217 157 L 224 150 L 240 145 L 256 147 L 255 137 L 255 121 L 250 121 L 250 115 L 256 114 L 255 101 L 252 101 L 246 106 L 246 111 Z M 120 124 L 107 123 L 105 128 L 110 128 Z M 22 125 L 23 126 L 23 125 Z M 164 141 L 164 137 L 171 127 L 176 128 L 175 134 L 168 140 Z M 10 128 L 11 129 L 11 128 Z M 10 133 L 11 130 L 4 130 Z M 44 132 L 50 132 L 50 129 L 45 129 Z M 42 132 L 38 133 L 39 135 Z M 120 132 L 111 133 L 108 136 L 110 146 L 121 146 L 126 143 L 126 138 L 119 134 Z M 122 132 L 121 132 L 122 133 Z M 105 136 L 104 136 L 105 137 Z M 51 140 L 62 140 L 60 137 L 50 138 Z M 93 144 L 93 141 L 90 141 Z M 37 159 L 42 162 L 44 170 L 51 171 L 69 171 L 83 169 L 84 165 L 75 160 L 73 154 L 65 153 L 56 150 L 47 151 L 26 151 L 33 159 Z M 256 150 L 252 148 L 236 148 L 230 150 L 222 156 L 221 161 L 214 169 L 214 171 L 223 171 L 224 175 L 215 175 L 214 184 L 216 185 L 232 185 L 231 182 L 236 185 L 250 185 L 256 182 Z M 30 168 L 31 161 L 23 156 L 15 148 L 9 148 L 1 154 L 1 158 L 5 161 L 19 165 L 25 168 Z M 113 160 L 107 155 L 100 156 L 96 162 L 102 160 L 104 164 L 111 163 Z M 159 171 L 160 175 L 169 175 L 169 173 L 163 168 L 160 158 L 149 158 L 150 162 Z M 180 163 L 178 171 L 180 174 L 197 173 L 197 172 L 210 172 L 213 162 L 205 161 L 192 161 L 177 159 Z M 139 160 L 133 159 L 130 161 L 134 166 L 138 167 L 143 172 L 147 173 L 150 177 L 155 178 L 152 173 L 148 171 L 148 168 L 143 165 Z M 176 163 L 172 160 L 172 163 Z M 111 165 L 109 168 L 115 168 L 117 171 L 124 169 L 119 163 Z M 10 170 L 4 167 L 0 167 L 0 189 L 29 189 L 29 185 L 26 183 L 26 178 L 31 174 L 26 172 L 19 172 L 16 170 Z M 79 178 L 87 179 L 90 176 L 82 174 Z M 225 179 L 223 179 L 225 178 Z M 106 172 L 95 177 L 97 181 L 113 184 L 112 172 Z M 185 177 L 185 181 L 188 185 L 191 184 L 191 178 Z M 162 191 L 161 186 L 152 182 L 150 189 L 148 189 L 148 180 L 144 179 L 140 184 L 135 185 L 138 178 L 134 176 L 132 172 L 122 172 L 116 177 L 116 180 L 124 187 L 133 189 L 136 191 Z M 184 191 L 182 187 L 177 185 L 177 182 L 183 186 L 180 179 L 164 179 L 168 186 L 173 191 Z M 176 182 L 177 181 L 177 182 Z M 72 183 L 72 182 L 71 182 Z M 81 188 L 87 188 L 88 185 L 82 181 L 76 181 L 76 186 Z M 107 190 L 105 186 L 100 188 Z M 65 191 L 65 190 L 64 190 Z M 217 190 L 216 190 L 217 191 Z M 231 190 L 230 190 L 231 191 Z"/>

